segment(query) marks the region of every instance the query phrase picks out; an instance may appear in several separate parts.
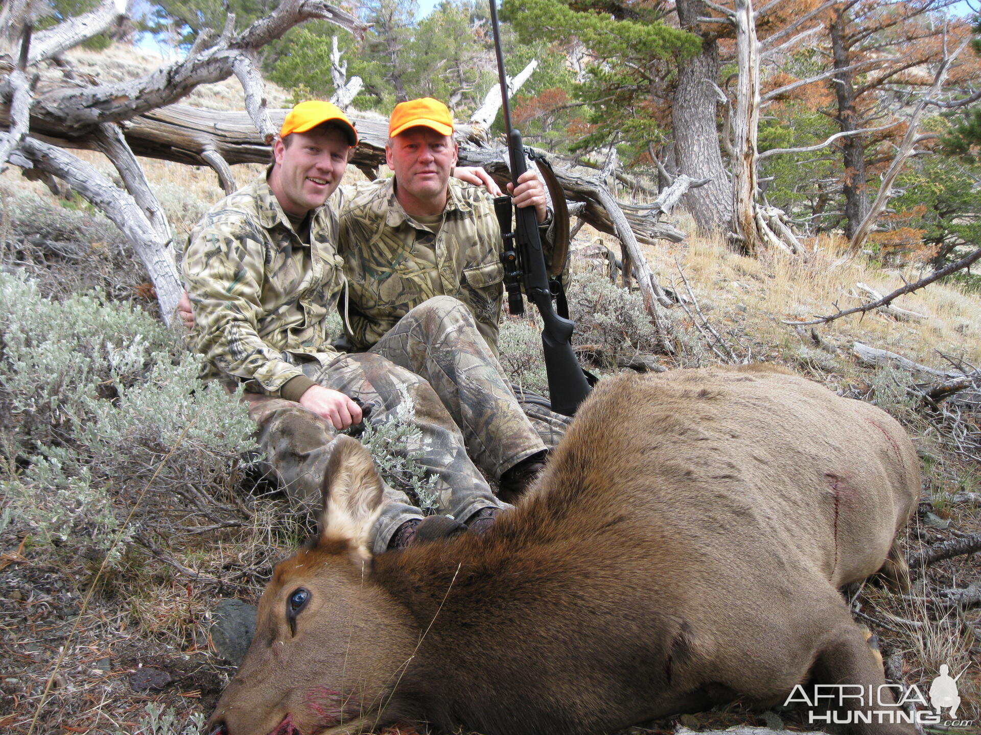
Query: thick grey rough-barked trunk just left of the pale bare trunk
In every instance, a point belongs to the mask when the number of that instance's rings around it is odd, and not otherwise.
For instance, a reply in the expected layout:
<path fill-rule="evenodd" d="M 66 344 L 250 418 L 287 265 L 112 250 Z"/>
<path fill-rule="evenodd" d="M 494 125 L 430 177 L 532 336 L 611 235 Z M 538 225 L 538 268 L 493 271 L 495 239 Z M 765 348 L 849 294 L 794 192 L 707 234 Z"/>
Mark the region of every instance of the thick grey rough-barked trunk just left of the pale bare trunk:
<path fill-rule="evenodd" d="M 709 15 L 701 0 L 678 0 L 684 28 L 698 32 L 697 18 Z M 713 84 L 719 76 L 718 42 L 702 35 L 701 53 L 683 60 L 671 101 L 671 123 L 679 173 L 711 179 L 691 189 L 686 203 L 701 232 L 729 227 L 733 215 L 732 188 L 722 162 L 716 123 L 718 97 Z"/>

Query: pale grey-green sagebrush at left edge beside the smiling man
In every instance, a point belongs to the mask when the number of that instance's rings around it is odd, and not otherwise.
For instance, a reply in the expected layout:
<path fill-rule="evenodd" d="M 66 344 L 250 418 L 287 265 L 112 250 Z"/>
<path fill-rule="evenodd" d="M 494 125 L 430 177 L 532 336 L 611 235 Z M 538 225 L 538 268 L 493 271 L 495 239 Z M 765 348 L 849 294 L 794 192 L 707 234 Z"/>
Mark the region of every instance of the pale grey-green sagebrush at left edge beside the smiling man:
<path fill-rule="evenodd" d="M 33 540 L 119 559 L 135 522 L 157 527 L 186 510 L 207 515 L 230 491 L 253 425 L 236 397 L 199 378 L 200 358 L 138 308 L 102 294 L 44 298 L 26 276 L 0 272 L 3 490 Z M 115 540 L 120 535 L 120 545 Z"/>

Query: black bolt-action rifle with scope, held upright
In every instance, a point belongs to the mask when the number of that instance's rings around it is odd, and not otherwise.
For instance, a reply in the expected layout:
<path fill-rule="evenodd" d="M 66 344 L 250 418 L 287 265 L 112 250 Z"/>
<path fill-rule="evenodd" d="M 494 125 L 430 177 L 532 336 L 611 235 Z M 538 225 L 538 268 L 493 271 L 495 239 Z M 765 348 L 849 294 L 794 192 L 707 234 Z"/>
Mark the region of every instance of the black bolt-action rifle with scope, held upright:
<path fill-rule="evenodd" d="M 528 170 L 525 164 L 525 147 L 521 133 L 511 127 L 511 111 L 507 103 L 507 76 L 504 73 L 504 57 L 500 50 L 500 30 L 497 26 L 496 0 L 490 0 L 490 25 L 493 28 L 494 52 L 497 55 L 497 75 L 500 77 L 501 104 L 504 109 L 504 129 L 507 131 L 507 150 L 511 164 L 511 181 L 518 185 L 518 176 Z M 547 162 L 546 162 L 547 166 Z M 545 172 L 542 164 L 539 169 L 545 175 L 549 185 L 553 205 L 561 204 L 564 209 L 565 196 L 561 187 L 553 186 L 555 176 L 550 168 Z M 549 180 L 548 174 L 551 173 Z M 556 191 L 557 189 L 557 191 Z M 511 228 L 511 199 L 497 197 L 494 199 L 494 211 L 500 222 L 501 235 L 504 238 L 504 249 L 500 260 L 504 264 L 504 286 L 507 289 L 507 305 L 511 314 L 524 313 L 524 301 L 521 298 L 521 287 L 524 285 L 525 294 L 535 304 L 542 315 L 542 348 L 545 356 L 545 372 L 548 375 L 548 395 L 551 399 L 552 411 L 572 416 L 583 399 L 590 392 L 590 381 L 583 368 L 576 361 L 572 351 L 572 330 L 575 324 L 568 319 L 565 306 L 565 294 L 562 284 L 557 277 L 565 262 L 565 252 L 555 253 L 553 260 L 557 273 L 553 272 L 551 279 L 545 267 L 542 251 L 542 237 L 539 234 L 539 222 L 535 217 L 534 207 L 522 207 L 515 210 L 515 224 Z M 556 217 L 556 225 L 566 228 L 562 233 L 568 239 L 568 215 L 563 222 Z M 552 308 L 552 299 L 558 298 L 560 311 L 556 314 Z"/>

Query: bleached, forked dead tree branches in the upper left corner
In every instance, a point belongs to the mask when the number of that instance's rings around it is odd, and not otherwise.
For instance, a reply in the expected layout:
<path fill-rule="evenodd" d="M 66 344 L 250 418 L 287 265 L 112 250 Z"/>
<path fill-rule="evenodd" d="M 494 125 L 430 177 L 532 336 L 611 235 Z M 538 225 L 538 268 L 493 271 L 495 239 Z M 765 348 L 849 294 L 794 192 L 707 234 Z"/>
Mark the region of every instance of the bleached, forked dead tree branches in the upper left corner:
<path fill-rule="evenodd" d="M 104 0 L 90 13 L 36 36 L 29 4 L 7 4 L 0 18 L 0 102 L 4 105 L 0 122 L 8 129 L 0 133 L 0 167 L 9 161 L 28 177 L 44 179 L 49 186 L 55 180 L 64 181 L 113 221 L 143 262 L 168 323 L 182 288 L 167 252 L 173 236 L 170 225 L 136 159 L 144 151 L 130 142 L 129 129 L 135 126 L 134 121 L 178 102 L 199 84 L 234 74 L 244 91 L 250 135 L 267 144 L 277 126 L 267 110 L 258 72 L 260 50 L 289 28 L 309 20 L 330 21 L 352 32 L 367 28 L 323 0 L 284 0 L 272 13 L 240 32 L 235 32 L 234 15 L 230 14 L 220 36 L 202 32 L 180 61 L 132 79 L 92 83 L 79 77 L 64 59 L 56 63 L 56 57 L 125 19 L 119 0 Z M 58 70 L 54 78 L 52 65 Z M 175 122 L 193 130 L 191 120 L 192 116 L 184 114 Z M 174 147 L 168 148 L 166 135 L 159 134 L 159 121 L 155 124 L 156 157 L 171 158 L 161 155 L 165 150 L 172 154 Z M 223 165 L 227 160 L 220 148 L 209 145 L 207 136 L 191 137 L 195 138 L 194 156 L 185 158 L 184 163 L 215 166 L 223 185 L 231 185 L 232 173 Z M 154 139 L 152 135 L 148 138 Z M 66 150 L 72 148 L 104 153 L 119 172 L 122 186 Z M 176 160 L 181 160 L 180 156 Z"/>

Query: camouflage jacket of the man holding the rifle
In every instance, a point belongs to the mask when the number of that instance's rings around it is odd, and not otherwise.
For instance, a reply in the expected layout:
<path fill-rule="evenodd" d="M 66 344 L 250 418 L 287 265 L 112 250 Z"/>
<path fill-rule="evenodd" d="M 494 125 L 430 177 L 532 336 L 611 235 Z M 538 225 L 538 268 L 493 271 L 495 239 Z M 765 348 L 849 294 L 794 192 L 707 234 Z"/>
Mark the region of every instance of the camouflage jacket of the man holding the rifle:
<path fill-rule="evenodd" d="M 504 267 L 493 199 L 485 189 L 451 178 L 443 223 L 434 234 L 402 209 L 393 184 L 385 178 L 349 187 L 339 208 L 354 348 L 371 347 L 410 309 L 445 295 L 467 305 L 496 353 Z"/>

